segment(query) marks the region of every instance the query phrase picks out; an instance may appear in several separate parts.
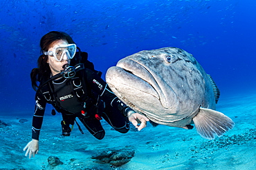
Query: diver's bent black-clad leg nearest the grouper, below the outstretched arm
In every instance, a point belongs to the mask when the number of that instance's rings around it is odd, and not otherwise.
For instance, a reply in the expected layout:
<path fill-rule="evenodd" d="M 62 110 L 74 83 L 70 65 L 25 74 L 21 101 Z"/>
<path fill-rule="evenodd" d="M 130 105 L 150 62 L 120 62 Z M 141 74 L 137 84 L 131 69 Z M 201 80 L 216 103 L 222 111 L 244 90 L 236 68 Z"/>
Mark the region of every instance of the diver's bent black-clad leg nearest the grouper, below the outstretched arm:
<path fill-rule="evenodd" d="M 119 131 L 122 134 L 129 131 L 130 125 L 128 118 L 123 116 L 122 113 L 114 107 L 106 106 L 102 118 L 104 118 L 113 129 L 116 129 L 116 131 Z"/>

